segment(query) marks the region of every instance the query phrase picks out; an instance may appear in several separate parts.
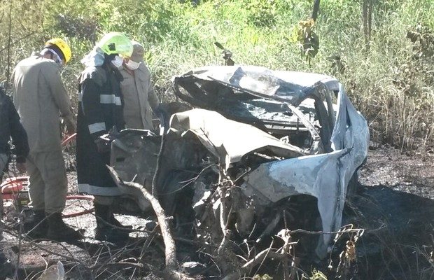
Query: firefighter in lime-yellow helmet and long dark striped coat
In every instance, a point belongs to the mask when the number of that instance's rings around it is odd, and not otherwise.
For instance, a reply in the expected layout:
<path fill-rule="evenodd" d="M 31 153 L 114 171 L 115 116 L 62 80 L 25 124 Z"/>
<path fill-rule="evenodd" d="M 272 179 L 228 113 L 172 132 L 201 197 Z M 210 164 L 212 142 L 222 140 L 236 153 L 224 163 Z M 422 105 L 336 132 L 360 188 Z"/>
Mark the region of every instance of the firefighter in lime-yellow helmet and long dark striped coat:
<path fill-rule="evenodd" d="M 106 167 L 110 163 L 110 144 L 104 134 L 125 127 L 119 69 L 123 57 L 132 55 L 132 48 L 124 34 L 111 32 L 81 61 L 86 68 L 78 85 L 78 190 L 94 195 L 97 240 L 122 241 L 128 237 L 125 228 L 131 228 L 113 215 L 111 205 L 120 190 Z"/>

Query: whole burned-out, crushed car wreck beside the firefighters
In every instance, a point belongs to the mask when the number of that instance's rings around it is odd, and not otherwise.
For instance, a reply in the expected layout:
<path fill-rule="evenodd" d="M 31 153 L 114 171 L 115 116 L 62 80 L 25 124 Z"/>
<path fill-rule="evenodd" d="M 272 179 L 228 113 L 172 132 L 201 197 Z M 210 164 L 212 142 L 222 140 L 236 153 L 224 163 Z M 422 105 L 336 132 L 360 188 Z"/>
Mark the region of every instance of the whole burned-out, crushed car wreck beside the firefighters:
<path fill-rule="evenodd" d="M 165 107 L 162 137 L 124 130 L 112 142 L 111 165 L 123 181 L 154 187 L 177 232 L 221 244 L 258 242 L 285 227 L 339 230 L 369 132 L 338 80 L 207 66 L 172 82 L 182 102 Z M 140 192 L 119 187 L 150 209 Z M 332 235 L 314 238 L 324 258 Z"/>

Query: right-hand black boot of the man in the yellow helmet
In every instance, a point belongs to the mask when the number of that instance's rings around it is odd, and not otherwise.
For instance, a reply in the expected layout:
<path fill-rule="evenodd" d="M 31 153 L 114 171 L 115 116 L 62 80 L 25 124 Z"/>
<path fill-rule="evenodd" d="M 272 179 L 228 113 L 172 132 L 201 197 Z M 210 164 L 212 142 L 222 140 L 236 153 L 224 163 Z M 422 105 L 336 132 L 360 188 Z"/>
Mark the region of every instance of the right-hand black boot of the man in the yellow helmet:
<path fill-rule="evenodd" d="M 62 220 L 62 213 L 46 214 L 48 220 L 47 239 L 55 241 L 76 241 L 83 238 L 83 234 L 70 228 Z"/>

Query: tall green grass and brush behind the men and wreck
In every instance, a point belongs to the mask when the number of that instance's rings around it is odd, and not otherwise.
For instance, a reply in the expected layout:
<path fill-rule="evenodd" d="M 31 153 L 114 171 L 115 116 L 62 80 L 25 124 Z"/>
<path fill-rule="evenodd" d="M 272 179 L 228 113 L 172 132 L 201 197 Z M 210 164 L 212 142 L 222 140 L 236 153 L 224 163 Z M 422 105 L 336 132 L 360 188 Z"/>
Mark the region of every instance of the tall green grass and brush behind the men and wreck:
<path fill-rule="evenodd" d="M 309 65 L 291 34 L 312 7 L 312 0 L 0 0 L 0 80 L 48 38 L 65 38 L 73 58 L 62 76 L 76 106 L 80 59 L 106 31 L 123 31 L 146 46 L 154 83 L 168 101 L 173 75 L 223 64 L 218 41 L 237 64 L 336 76 L 367 117 L 375 141 L 432 145 L 432 0 L 321 1 L 315 27 L 320 49 Z"/>

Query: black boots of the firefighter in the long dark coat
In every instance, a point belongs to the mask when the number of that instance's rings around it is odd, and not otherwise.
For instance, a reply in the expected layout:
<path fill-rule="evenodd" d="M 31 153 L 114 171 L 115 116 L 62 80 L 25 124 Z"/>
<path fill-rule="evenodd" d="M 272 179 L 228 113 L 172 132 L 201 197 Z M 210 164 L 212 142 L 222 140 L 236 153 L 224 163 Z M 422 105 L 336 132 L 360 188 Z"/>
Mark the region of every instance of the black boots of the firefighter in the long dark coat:
<path fill-rule="evenodd" d="M 126 230 L 119 229 L 126 229 L 126 227 L 123 226 L 118 220 L 116 220 L 109 205 L 94 203 L 94 208 L 95 218 L 97 218 L 95 239 L 110 242 L 125 241 L 126 239 L 128 239 L 128 232 Z"/>

